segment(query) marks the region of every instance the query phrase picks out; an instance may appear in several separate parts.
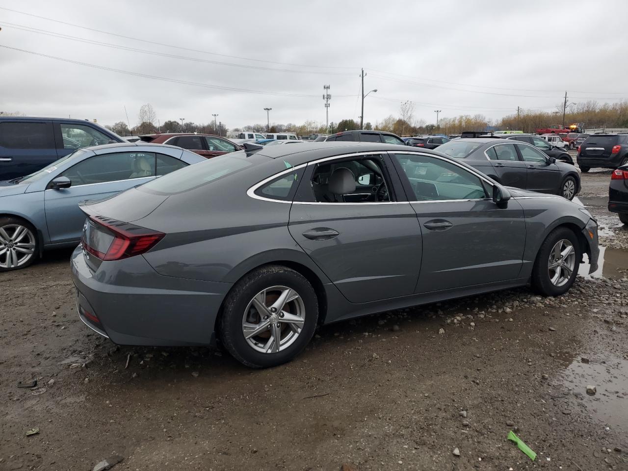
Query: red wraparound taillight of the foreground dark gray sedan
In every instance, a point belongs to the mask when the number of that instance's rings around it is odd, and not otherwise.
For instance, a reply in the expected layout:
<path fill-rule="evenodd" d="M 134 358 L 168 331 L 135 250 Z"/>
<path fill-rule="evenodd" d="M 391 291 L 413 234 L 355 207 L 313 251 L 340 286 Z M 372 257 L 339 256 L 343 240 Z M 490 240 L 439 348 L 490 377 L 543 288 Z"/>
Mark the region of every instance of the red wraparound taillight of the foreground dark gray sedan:
<path fill-rule="evenodd" d="M 105 232 L 109 232 L 114 237 L 105 253 L 91 247 L 85 239 L 85 234 L 81 240 L 82 246 L 87 252 L 104 261 L 120 260 L 148 252 L 166 236 L 162 232 L 127 222 L 94 216 L 90 216 L 89 219 L 97 226 L 104 227 Z"/>

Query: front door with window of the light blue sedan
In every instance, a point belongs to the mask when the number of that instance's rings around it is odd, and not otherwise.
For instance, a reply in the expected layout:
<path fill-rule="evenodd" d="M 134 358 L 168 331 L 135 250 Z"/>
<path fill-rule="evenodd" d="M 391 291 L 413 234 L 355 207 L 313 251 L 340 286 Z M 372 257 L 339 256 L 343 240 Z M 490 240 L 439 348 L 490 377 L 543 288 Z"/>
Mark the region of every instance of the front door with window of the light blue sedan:
<path fill-rule="evenodd" d="M 65 244 L 80 239 L 85 214 L 78 204 L 109 197 L 152 180 L 155 154 L 150 152 L 114 152 L 92 155 L 58 176 L 72 181 L 70 188 L 44 192 L 46 224 L 51 244 Z"/>

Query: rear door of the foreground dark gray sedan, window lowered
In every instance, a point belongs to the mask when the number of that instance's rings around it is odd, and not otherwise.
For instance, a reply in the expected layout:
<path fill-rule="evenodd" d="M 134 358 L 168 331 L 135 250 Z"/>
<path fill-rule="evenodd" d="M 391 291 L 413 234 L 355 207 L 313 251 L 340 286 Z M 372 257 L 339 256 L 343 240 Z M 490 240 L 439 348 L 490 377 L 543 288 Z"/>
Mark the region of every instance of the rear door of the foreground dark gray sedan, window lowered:
<path fill-rule="evenodd" d="M 361 160 L 376 165 L 384 178 L 382 201 L 328 201 L 333 198 L 324 196 L 332 185 L 320 174 L 329 173 L 330 166 L 347 174 L 352 163 Z M 290 210 L 291 236 L 352 303 L 411 295 L 416 286 L 421 229 L 408 202 L 395 200 L 393 185 L 398 188 L 399 178 L 389 168 L 387 156 L 378 153 L 310 163 Z M 342 193 L 357 185 L 357 181 L 344 183 L 348 186 Z"/>

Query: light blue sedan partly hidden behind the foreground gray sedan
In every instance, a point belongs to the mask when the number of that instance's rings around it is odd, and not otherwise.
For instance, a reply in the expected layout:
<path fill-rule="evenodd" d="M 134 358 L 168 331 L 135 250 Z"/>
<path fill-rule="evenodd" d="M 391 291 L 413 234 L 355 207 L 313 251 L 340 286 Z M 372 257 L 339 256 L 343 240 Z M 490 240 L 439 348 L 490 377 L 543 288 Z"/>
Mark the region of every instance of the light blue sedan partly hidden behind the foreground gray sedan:
<path fill-rule="evenodd" d="M 85 222 L 78 203 L 205 160 L 164 144 L 106 144 L 78 149 L 36 173 L 1 181 L 0 271 L 29 266 L 47 249 L 76 246 Z"/>

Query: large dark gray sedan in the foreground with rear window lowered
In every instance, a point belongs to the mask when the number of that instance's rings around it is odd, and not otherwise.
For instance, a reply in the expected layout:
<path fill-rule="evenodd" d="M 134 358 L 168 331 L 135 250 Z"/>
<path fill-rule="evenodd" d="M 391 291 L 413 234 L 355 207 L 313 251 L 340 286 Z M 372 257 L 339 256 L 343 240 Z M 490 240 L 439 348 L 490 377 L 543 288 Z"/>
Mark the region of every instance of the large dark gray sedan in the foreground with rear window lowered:
<path fill-rule="evenodd" d="M 80 319 L 117 344 L 286 362 L 321 323 L 531 284 L 570 289 L 597 224 L 435 151 L 254 146 L 82 205 Z"/>

